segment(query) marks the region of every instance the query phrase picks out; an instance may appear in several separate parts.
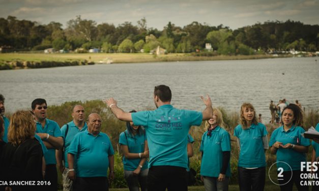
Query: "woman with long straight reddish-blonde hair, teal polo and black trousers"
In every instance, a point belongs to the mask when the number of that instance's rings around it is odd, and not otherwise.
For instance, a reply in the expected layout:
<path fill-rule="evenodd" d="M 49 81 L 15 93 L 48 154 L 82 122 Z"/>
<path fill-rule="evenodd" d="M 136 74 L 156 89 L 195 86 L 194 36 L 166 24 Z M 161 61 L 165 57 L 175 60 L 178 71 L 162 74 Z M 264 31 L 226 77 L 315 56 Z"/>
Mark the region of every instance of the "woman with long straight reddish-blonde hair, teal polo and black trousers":
<path fill-rule="evenodd" d="M 240 190 L 264 190 L 268 137 L 266 126 L 259 123 L 250 103 L 241 106 L 240 124 L 234 135 L 239 148 L 238 176 Z"/>

